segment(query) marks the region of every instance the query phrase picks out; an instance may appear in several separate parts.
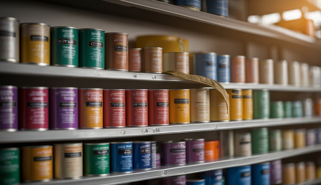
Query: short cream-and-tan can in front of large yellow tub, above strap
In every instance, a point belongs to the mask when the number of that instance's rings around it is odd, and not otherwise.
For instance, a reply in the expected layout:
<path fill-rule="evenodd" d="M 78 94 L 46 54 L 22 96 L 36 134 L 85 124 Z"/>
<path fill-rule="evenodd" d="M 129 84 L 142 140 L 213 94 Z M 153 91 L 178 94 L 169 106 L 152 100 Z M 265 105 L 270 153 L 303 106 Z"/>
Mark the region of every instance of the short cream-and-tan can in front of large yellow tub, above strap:
<path fill-rule="evenodd" d="M 179 71 L 189 74 L 189 53 L 163 53 L 163 71 Z"/>

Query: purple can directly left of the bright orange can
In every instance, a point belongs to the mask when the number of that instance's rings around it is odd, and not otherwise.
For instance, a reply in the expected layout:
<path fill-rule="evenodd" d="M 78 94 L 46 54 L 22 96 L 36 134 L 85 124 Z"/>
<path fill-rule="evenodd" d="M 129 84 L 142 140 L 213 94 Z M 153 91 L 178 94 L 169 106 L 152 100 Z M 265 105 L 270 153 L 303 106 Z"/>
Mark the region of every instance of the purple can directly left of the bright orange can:
<path fill-rule="evenodd" d="M 186 163 L 204 163 L 205 139 L 184 139 L 186 142 Z"/>

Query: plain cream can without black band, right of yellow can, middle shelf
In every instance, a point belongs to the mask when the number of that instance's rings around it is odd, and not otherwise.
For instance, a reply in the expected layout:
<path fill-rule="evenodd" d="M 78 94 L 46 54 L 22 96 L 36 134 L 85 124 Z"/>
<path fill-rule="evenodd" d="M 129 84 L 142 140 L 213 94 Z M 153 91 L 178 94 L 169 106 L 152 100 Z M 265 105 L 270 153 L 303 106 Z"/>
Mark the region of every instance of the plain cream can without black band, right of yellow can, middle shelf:
<path fill-rule="evenodd" d="M 190 89 L 190 121 L 210 122 L 210 90 Z"/>

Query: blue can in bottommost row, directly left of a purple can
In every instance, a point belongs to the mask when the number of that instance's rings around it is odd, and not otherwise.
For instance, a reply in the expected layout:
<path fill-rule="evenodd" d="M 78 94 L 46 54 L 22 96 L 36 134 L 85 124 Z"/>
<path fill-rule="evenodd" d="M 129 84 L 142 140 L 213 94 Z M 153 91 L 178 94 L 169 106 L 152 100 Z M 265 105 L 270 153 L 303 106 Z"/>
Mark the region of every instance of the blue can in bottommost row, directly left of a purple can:
<path fill-rule="evenodd" d="M 252 165 L 252 184 L 270 185 L 270 163 Z"/>

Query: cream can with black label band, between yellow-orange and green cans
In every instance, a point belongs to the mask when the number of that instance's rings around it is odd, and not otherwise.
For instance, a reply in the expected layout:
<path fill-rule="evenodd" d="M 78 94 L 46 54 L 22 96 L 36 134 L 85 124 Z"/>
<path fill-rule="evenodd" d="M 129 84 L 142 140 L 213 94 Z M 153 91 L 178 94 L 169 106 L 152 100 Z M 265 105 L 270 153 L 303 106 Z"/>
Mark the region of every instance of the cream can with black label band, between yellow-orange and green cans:
<path fill-rule="evenodd" d="M 54 157 L 56 179 L 82 177 L 82 143 L 56 144 Z"/>

